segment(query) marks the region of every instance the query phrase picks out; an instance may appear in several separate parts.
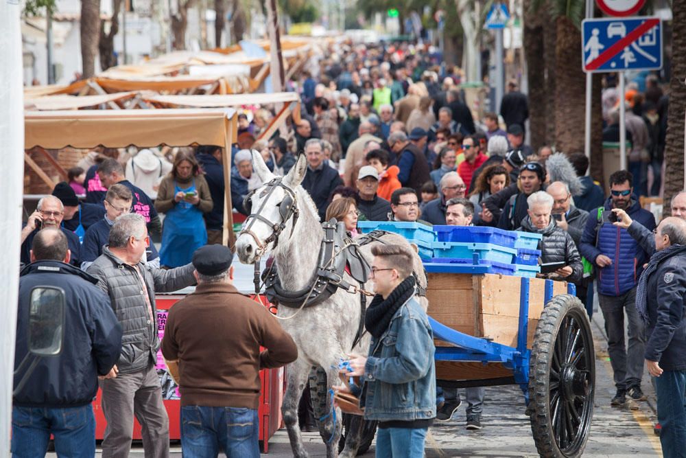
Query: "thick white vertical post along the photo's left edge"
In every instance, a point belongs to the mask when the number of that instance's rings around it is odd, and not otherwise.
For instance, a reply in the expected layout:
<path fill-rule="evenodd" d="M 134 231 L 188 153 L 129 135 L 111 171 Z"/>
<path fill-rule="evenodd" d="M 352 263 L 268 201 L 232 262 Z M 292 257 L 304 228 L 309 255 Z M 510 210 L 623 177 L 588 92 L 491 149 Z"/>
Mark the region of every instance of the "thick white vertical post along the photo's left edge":
<path fill-rule="evenodd" d="M 21 196 L 24 161 L 19 151 L 24 149 L 24 104 L 22 91 L 21 8 L 19 2 L 0 1 L 0 154 L 3 157 L 3 180 L 0 190 L 0 457 L 10 456 L 12 428 L 12 385 L 14 372 L 14 340 L 16 336 L 16 304 L 19 297 L 19 247 L 21 239 Z"/>

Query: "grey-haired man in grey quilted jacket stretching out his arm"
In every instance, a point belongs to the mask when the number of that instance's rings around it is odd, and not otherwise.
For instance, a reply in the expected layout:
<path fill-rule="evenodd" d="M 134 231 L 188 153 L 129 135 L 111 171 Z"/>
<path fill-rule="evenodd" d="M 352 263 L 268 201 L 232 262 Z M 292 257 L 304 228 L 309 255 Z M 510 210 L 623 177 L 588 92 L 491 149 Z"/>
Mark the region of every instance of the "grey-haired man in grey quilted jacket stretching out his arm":
<path fill-rule="evenodd" d="M 107 420 L 104 458 L 128 456 L 134 415 L 142 426 L 145 456 L 169 456 L 169 417 L 155 370 L 160 347 L 155 293 L 185 288 L 196 280 L 192 264 L 169 271 L 145 266 L 141 259 L 149 243 L 143 216 L 119 216 L 110 229 L 109 244 L 87 270 L 110 297 L 123 328 L 121 355 L 110 373 L 117 376 L 101 385 Z"/>

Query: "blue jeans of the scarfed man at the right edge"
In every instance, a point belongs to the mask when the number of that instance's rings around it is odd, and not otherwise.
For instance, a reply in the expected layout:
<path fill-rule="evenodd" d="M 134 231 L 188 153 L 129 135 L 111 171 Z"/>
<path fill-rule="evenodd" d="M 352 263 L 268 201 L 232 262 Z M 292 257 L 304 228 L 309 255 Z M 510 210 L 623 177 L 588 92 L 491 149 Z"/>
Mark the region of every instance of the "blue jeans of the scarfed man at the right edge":
<path fill-rule="evenodd" d="M 655 387 L 663 456 L 686 457 L 686 371 L 664 371 Z"/>

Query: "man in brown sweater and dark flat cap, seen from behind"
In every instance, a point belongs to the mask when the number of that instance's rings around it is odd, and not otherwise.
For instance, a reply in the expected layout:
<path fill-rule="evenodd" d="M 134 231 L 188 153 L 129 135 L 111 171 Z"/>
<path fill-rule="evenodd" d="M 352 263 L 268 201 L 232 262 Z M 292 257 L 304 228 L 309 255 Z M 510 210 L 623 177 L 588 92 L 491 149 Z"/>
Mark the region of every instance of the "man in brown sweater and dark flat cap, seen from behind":
<path fill-rule="evenodd" d="M 196 291 L 167 317 L 162 354 L 179 382 L 184 456 L 216 457 L 222 448 L 227 457 L 259 457 L 259 370 L 298 357 L 270 312 L 233 286 L 231 260 L 222 245 L 196 250 Z"/>

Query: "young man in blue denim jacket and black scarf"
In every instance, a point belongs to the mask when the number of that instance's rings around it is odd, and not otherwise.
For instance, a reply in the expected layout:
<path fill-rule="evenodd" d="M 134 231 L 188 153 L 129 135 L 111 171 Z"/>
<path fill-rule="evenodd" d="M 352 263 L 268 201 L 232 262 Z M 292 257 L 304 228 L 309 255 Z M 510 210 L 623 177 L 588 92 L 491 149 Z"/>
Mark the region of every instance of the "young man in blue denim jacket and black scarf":
<path fill-rule="evenodd" d="M 436 417 L 434 336 L 414 299 L 412 253 L 399 245 L 377 245 L 372 254 L 376 296 L 364 319 L 372 334 L 369 353 L 351 355 L 342 372 L 346 379 L 362 380 L 359 406 L 365 420 L 379 422 L 377 457 L 421 458 Z M 336 389 L 351 392 L 346 385 Z"/>

